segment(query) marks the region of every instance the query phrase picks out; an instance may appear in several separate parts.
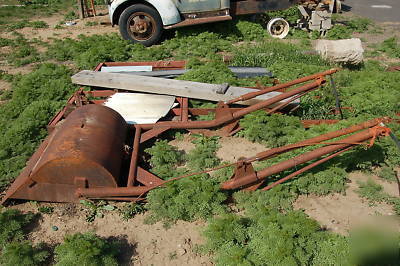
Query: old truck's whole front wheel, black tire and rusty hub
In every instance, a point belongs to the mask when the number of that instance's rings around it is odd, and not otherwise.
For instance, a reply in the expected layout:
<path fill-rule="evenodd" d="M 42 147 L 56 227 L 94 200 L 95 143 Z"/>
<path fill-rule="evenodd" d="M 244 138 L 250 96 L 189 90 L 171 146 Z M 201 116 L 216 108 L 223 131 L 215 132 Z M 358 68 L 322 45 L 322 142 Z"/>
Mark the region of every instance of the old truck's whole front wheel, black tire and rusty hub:
<path fill-rule="evenodd" d="M 118 24 L 122 38 L 144 46 L 157 43 L 163 32 L 163 23 L 157 10 L 142 4 L 125 9 Z"/>

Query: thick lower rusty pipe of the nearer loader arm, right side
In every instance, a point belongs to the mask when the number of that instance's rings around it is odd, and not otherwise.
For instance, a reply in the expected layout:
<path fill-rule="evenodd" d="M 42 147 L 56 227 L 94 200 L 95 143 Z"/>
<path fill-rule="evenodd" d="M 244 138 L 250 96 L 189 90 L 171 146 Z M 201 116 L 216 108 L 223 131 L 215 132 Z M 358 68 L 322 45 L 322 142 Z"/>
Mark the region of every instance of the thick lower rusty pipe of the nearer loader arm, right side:
<path fill-rule="evenodd" d="M 386 128 L 377 128 L 376 130 L 378 133 L 377 135 L 383 135 L 387 129 Z M 240 188 L 243 186 L 248 186 L 248 185 L 251 185 L 254 183 L 259 183 L 260 181 L 266 179 L 268 176 L 280 173 L 282 171 L 285 171 L 285 170 L 295 167 L 297 165 L 303 164 L 305 162 L 314 160 L 316 158 L 319 158 L 326 154 L 332 153 L 334 151 L 345 149 L 345 148 L 353 145 L 352 143 L 360 143 L 365 140 L 371 139 L 372 137 L 374 137 L 374 134 L 375 134 L 374 131 L 371 129 L 358 132 L 354 135 L 351 135 L 351 136 L 341 140 L 342 142 L 345 142 L 343 144 L 333 144 L 333 145 L 317 148 L 313 151 L 296 156 L 295 158 L 277 163 L 266 169 L 260 170 L 260 171 L 256 172 L 255 175 L 249 174 L 240 179 L 226 181 L 221 185 L 221 188 L 224 190 L 237 189 L 237 188 Z"/>

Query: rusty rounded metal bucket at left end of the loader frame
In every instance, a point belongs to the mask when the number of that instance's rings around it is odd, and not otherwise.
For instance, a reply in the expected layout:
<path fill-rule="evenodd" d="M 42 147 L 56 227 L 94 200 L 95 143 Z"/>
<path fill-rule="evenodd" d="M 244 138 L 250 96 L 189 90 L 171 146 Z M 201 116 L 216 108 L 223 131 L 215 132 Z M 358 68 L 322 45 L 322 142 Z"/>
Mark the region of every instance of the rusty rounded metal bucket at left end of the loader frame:
<path fill-rule="evenodd" d="M 42 143 L 15 180 L 9 198 L 76 202 L 77 188 L 118 187 L 125 120 L 102 105 L 74 110 Z"/>

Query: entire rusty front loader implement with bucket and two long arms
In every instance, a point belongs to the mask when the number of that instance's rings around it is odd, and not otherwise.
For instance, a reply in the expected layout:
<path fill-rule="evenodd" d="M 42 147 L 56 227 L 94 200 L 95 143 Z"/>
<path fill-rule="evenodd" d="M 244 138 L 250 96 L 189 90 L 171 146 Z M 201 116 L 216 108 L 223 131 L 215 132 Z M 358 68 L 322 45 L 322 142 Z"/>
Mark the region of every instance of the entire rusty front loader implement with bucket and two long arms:
<path fill-rule="evenodd" d="M 246 93 L 228 101 L 220 101 L 216 108 L 190 108 L 188 98 L 176 97 L 176 104 L 162 121 L 129 124 L 115 110 L 104 106 L 107 99 L 117 95 L 114 90 L 78 90 L 66 106 L 48 124 L 49 135 L 30 158 L 27 166 L 2 199 L 26 199 L 49 202 L 78 202 L 80 199 L 137 201 L 146 193 L 168 182 L 199 174 L 193 173 L 160 179 L 146 169 L 141 153 L 142 145 L 172 129 L 185 129 L 207 135 L 231 136 L 240 130 L 239 119 L 257 111 L 268 114 L 283 112 L 300 97 L 326 84 L 326 76 L 336 69 L 303 77 L 291 82 Z M 298 85 L 298 86 L 296 86 Z M 292 88 L 294 87 L 295 88 Z M 238 102 L 254 99 L 281 90 L 267 99 L 248 106 Z M 289 110 L 290 111 L 290 110 Z M 192 120 L 194 116 L 214 113 L 209 121 Z M 241 159 L 234 166 L 232 178 L 221 184 L 221 189 L 261 188 L 268 190 L 358 145 L 373 145 L 375 139 L 387 136 L 390 130 L 383 123 L 388 118 L 374 119 L 359 125 L 330 132 L 291 145 L 261 152 Z M 305 125 L 335 123 L 336 121 L 304 121 Z M 333 140 L 344 137 L 340 140 Z M 331 141 L 333 140 L 333 141 Z M 294 149 L 317 145 L 312 151 L 255 171 L 252 163 L 266 160 Z M 325 157 L 324 157 L 325 156 Z M 317 160 L 318 159 L 318 160 Z M 317 161 L 315 161 L 317 160 Z M 307 164 L 309 163 L 309 164 Z M 271 175 L 303 166 L 289 176 L 267 186 Z"/>

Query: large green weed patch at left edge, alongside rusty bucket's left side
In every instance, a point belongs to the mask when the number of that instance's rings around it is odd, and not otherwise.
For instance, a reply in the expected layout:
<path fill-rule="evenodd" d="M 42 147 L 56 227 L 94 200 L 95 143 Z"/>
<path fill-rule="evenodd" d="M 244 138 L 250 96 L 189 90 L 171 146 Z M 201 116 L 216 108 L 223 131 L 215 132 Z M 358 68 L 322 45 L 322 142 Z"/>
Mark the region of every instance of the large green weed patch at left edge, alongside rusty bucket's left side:
<path fill-rule="evenodd" d="M 66 67 L 43 64 L 15 76 L 12 98 L 0 105 L 0 186 L 14 179 L 47 135 L 46 125 L 74 90 Z"/>

